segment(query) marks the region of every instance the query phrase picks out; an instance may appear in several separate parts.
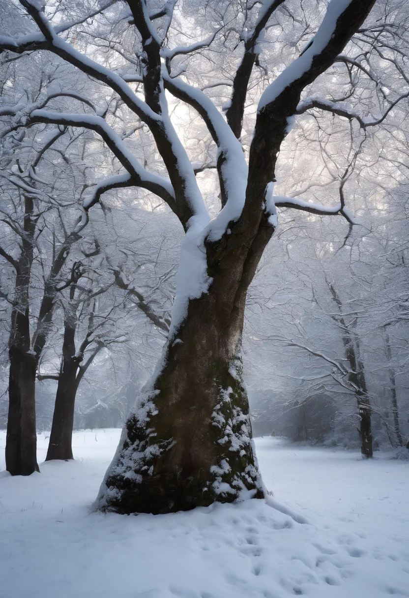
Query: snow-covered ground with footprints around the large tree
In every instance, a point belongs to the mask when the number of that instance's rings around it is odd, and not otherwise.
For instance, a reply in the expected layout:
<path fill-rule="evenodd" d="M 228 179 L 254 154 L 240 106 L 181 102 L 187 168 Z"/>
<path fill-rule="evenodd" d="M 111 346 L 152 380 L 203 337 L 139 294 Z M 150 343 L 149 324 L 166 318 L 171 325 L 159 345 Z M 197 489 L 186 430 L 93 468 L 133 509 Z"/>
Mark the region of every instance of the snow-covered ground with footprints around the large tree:
<path fill-rule="evenodd" d="M 75 462 L 0 472 L 2 598 L 409 596 L 408 461 L 259 438 L 273 506 L 90 514 L 119 435 L 75 432 Z"/>

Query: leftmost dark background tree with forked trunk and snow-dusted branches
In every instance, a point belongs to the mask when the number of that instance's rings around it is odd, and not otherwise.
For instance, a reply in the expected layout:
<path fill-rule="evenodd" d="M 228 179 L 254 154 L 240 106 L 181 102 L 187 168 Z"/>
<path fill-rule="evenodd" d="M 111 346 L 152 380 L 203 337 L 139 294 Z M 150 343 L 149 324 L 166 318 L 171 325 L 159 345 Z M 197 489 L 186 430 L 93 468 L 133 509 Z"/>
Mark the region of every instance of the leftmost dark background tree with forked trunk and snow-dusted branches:
<path fill-rule="evenodd" d="M 62 200 L 62 190 L 51 189 L 51 193 L 47 193 L 44 190 L 47 182 L 38 178 L 36 173 L 36 166 L 42 156 L 62 134 L 59 129 L 54 131 L 51 140 L 48 139 L 34 154 L 35 160 L 26 170 L 22 168 L 24 158 L 20 152 L 19 170 L 16 175 L 11 173 L 11 176 L 2 176 L 3 198 L 7 197 L 2 203 L 2 222 L 11 231 L 11 234 L 6 234 L 4 241 L 7 243 L 6 248 L 10 247 L 11 251 L 2 247 L 0 254 L 16 273 L 14 289 L 7 294 L 11 303 L 11 325 L 8 341 L 10 379 L 6 462 L 8 471 L 13 475 L 29 475 L 38 469 L 35 426 L 36 371 L 50 332 L 57 292 L 56 280 L 72 245 L 80 239 L 80 231 L 84 227 L 83 223 L 77 225 L 74 222 L 68 224 L 71 224 L 71 230 L 67 229 L 65 219 L 67 216 L 70 218 L 69 210 L 62 216 L 59 209 L 69 209 L 70 202 Z M 12 136 L 11 139 L 16 138 Z M 20 141 L 23 139 L 24 135 Z M 8 144 L 10 141 L 6 145 Z M 55 181 L 51 185 L 54 187 Z M 51 238 L 47 235 L 50 228 L 53 229 Z M 43 235 L 44 231 L 47 233 Z M 52 243 L 51 260 L 43 259 L 43 243 Z M 36 270 L 37 287 L 37 276 L 41 276 L 42 272 L 42 289 L 39 291 L 42 292 L 42 299 L 35 307 L 30 302 L 33 265 Z M 33 309 L 38 309 L 34 325 L 30 324 Z"/>

